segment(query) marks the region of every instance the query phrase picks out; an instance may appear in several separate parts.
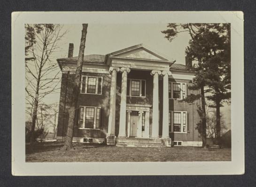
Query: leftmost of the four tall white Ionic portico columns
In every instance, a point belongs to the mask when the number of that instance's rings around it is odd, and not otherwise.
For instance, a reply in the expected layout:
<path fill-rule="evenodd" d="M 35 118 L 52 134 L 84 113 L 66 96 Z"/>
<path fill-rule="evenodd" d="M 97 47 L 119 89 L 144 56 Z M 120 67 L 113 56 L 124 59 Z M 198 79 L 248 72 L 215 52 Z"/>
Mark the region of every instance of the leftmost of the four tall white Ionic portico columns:
<path fill-rule="evenodd" d="M 110 102 L 109 102 L 109 127 L 107 134 L 107 144 L 115 144 L 115 118 L 116 118 L 116 72 L 119 72 L 120 68 L 110 67 L 111 73 L 111 87 L 110 87 Z"/>

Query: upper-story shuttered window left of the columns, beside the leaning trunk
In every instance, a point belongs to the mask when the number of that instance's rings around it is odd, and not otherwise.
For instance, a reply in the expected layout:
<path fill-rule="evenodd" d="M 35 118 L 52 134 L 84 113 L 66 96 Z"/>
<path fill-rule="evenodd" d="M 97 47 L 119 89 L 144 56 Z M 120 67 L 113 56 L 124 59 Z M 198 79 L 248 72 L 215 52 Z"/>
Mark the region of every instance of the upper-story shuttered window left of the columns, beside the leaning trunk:
<path fill-rule="evenodd" d="M 82 76 L 82 94 L 101 94 L 102 77 Z"/>

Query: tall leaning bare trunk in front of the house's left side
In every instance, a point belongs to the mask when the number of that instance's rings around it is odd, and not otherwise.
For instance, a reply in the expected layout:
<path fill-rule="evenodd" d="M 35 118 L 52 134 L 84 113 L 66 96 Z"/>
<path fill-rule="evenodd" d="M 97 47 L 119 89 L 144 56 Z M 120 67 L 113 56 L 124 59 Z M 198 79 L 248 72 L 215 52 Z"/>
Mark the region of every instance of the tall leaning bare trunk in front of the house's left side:
<path fill-rule="evenodd" d="M 63 150 L 70 150 L 72 148 L 73 130 L 75 125 L 75 116 L 76 116 L 77 102 L 78 102 L 78 96 L 79 96 L 79 86 L 80 86 L 81 74 L 82 74 L 82 68 L 83 68 L 87 27 L 88 27 L 88 24 L 83 24 L 76 75 L 75 75 L 75 80 L 74 80 L 72 95 L 71 95 L 71 104 L 68 110 L 69 112 L 68 128 L 67 128 L 67 133 L 65 138 L 65 145 L 62 148 Z"/>

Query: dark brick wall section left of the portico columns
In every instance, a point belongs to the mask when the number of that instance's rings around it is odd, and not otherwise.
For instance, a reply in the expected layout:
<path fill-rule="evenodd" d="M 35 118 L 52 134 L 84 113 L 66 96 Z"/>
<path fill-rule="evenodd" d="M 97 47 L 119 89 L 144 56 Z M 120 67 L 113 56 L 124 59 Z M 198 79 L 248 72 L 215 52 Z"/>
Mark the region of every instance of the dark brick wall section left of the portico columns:
<path fill-rule="evenodd" d="M 101 73 L 86 73 L 83 72 L 82 75 L 99 76 L 102 77 L 102 94 L 79 94 L 78 97 L 78 107 L 79 106 L 90 106 L 90 107 L 101 107 L 102 118 L 101 127 L 99 129 L 78 129 L 75 126 L 74 137 L 98 137 L 104 138 L 108 131 L 108 120 L 109 120 L 109 95 L 110 95 L 110 85 L 111 77 L 109 74 Z M 72 91 L 70 90 L 71 84 L 74 81 L 74 74 L 68 75 L 67 73 L 62 74 L 62 86 L 60 95 L 60 107 L 59 107 L 59 120 L 58 120 L 58 131 L 57 136 L 66 136 L 65 131 L 68 125 L 68 116 L 64 115 L 64 108 L 66 110 L 70 107 L 70 98 Z M 68 77 L 68 78 L 67 78 Z M 66 86 L 67 89 L 66 89 Z M 67 94 L 65 94 L 67 93 Z M 66 105 L 65 105 L 65 95 L 66 95 Z"/>

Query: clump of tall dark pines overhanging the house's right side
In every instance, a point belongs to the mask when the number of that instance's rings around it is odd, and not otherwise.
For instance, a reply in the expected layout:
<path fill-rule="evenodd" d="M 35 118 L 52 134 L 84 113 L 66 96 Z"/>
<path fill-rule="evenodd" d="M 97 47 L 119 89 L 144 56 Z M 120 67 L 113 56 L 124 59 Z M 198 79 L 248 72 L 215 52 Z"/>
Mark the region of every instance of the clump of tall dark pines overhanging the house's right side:
<path fill-rule="evenodd" d="M 201 99 L 198 114 L 201 121 L 197 129 L 202 137 L 202 147 L 206 145 L 206 98 L 214 101 L 216 108 L 217 134 L 220 136 L 220 107 L 230 97 L 230 26 L 229 24 L 168 24 L 162 31 L 171 42 L 180 32 L 189 32 L 191 40 L 186 48 L 186 59 L 198 61 L 196 66 L 187 66 L 195 71 L 191 90 L 200 89 L 201 93 L 190 94 L 184 101 L 193 103 Z M 205 93 L 210 93 L 205 96 Z"/>

